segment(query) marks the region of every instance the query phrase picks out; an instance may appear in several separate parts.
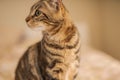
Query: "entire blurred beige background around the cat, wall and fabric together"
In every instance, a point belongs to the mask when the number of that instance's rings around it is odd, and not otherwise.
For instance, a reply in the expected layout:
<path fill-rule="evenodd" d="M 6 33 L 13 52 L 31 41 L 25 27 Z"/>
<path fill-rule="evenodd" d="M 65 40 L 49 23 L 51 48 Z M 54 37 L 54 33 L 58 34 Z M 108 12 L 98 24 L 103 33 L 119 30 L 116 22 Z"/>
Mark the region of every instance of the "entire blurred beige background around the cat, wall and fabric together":
<path fill-rule="evenodd" d="M 80 71 L 86 75 L 80 74 L 81 80 L 119 80 L 120 63 L 105 54 L 120 60 L 120 1 L 63 1 L 80 30 L 82 45 L 106 52 L 82 50 Z M 41 33 L 30 30 L 25 23 L 34 2 L 36 0 L 0 0 L 0 80 L 13 80 L 24 50 L 40 40 Z"/>

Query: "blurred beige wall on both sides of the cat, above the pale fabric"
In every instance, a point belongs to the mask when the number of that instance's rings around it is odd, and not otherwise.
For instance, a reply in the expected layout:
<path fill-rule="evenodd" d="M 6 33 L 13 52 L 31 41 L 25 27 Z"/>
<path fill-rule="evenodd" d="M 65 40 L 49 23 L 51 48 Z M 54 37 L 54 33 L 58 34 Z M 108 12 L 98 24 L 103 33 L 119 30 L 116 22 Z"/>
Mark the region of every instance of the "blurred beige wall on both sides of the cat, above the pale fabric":
<path fill-rule="evenodd" d="M 63 0 L 82 41 L 120 60 L 120 1 Z M 15 44 L 36 0 L 0 0 L 0 49 Z M 9 44 L 9 45 L 8 45 Z"/>

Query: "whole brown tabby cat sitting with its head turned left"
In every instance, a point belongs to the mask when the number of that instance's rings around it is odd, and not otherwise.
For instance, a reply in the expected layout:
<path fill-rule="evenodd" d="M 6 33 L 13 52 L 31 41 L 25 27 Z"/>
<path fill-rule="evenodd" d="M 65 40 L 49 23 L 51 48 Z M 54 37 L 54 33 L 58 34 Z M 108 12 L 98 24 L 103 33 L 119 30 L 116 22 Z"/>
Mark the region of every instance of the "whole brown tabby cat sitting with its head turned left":
<path fill-rule="evenodd" d="M 22 56 L 15 80 L 75 80 L 79 68 L 79 32 L 61 0 L 40 0 L 26 18 L 43 33 Z"/>

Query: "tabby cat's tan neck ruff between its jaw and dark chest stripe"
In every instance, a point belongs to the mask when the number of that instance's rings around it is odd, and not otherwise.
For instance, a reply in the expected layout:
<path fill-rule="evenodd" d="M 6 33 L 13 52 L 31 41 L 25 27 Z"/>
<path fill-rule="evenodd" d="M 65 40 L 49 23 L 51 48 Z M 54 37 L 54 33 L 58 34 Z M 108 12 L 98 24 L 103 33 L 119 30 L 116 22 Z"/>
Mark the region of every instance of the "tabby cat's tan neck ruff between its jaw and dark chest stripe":
<path fill-rule="evenodd" d="M 51 30 L 50 33 L 44 35 L 43 39 L 47 41 L 59 43 L 69 43 L 74 38 L 73 36 L 78 36 L 78 32 L 74 24 L 70 21 L 64 21 L 64 23 L 56 30 Z M 53 32 L 52 32 L 53 31 Z"/>

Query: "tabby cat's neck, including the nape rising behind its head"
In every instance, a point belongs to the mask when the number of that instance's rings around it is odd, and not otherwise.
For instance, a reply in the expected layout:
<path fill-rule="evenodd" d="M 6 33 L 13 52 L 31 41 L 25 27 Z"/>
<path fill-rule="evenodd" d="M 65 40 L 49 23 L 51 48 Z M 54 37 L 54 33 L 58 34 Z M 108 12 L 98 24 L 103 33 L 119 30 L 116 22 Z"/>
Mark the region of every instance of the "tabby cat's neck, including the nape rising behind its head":
<path fill-rule="evenodd" d="M 55 28 L 51 28 L 46 34 L 44 34 L 44 37 L 47 37 L 49 41 L 65 43 L 70 41 L 70 39 L 73 38 L 72 36 L 76 35 L 76 33 L 78 33 L 77 29 L 73 24 L 69 13 L 66 13 L 64 15 L 64 20 Z"/>

